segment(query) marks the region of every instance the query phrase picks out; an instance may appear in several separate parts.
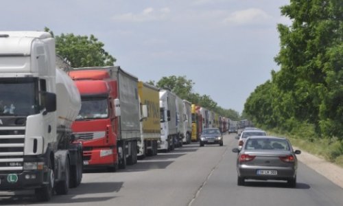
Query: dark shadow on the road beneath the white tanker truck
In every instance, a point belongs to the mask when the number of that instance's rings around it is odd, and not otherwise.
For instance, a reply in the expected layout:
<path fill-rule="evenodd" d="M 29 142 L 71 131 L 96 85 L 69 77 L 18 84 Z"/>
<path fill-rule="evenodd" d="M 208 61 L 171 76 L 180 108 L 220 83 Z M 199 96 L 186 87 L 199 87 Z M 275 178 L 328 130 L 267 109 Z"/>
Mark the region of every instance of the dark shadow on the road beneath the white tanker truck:
<path fill-rule="evenodd" d="M 119 192 L 123 182 L 119 183 L 81 183 L 77 188 L 69 190 L 67 195 L 54 195 L 49 202 L 38 202 L 34 196 L 34 190 L 25 190 L 18 192 L 0 192 L 0 205 L 32 205 L 32 204 L 66 204 L 66 203 L 90 203 L 102 202 L 115 198 L 113 193 Z M 97 196 L 89 196 L 97 194 Z M 106 196 L 99 196 L 106 194 Z"/>

